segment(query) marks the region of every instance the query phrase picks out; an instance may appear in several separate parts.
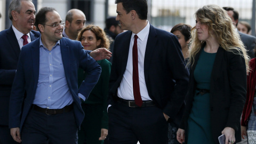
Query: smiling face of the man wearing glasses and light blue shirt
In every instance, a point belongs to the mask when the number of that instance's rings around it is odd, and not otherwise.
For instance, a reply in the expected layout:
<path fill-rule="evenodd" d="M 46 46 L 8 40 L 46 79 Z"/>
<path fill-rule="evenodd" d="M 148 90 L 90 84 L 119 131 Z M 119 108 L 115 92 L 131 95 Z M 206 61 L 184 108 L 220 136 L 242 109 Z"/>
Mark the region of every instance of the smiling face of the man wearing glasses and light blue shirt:
<path fill-rule="evenodd" d="M 62 38 L 63 26 L 59 25 L 56 28 L 52 27 L 52 25 L 59 24 L 62 21 L 59 13 L 56 11 L 47 12 L 46 20 L 47 21 L 45 22 L 44 29 L 41 30 L 42 31 L 41 35 L 43 37 L 46 37 L 48 41 L 51 41 L 51 42 L 59 41 L 59 39 Z M 50 25 L 50 26 L 46 26 L 46 25 Z"/>

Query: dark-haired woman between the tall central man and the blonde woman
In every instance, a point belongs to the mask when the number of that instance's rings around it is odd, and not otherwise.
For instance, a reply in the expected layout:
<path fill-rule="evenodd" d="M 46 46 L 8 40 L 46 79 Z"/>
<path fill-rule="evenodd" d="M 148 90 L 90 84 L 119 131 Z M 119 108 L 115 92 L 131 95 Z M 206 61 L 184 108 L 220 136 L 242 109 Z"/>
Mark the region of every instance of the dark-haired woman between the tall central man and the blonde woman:
<path fill-rule="evenodd" d="M 190 31 L 191 26 L 186 25 L 184 23 L 179 23 L 178 25 L 175 25 L 171 33 L 178 37 L 179 43 L 181 45 L 181 51 L 183 54 L 184 59 L 188 58 L 188 45 L 190 43 Z"/>

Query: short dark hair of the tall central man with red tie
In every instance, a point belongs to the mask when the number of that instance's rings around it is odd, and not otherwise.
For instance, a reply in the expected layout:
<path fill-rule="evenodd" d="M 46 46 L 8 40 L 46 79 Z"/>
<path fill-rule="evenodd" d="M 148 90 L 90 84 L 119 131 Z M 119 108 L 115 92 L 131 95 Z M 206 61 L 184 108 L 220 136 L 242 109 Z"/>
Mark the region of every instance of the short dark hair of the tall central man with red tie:
<path fill-rule="evenodd" d="M 146 0 L 116 0 L 115 4 L 122 3 L 126 14 L 134 10 L 141 20 L 148 18 L 148 4 Z"/>

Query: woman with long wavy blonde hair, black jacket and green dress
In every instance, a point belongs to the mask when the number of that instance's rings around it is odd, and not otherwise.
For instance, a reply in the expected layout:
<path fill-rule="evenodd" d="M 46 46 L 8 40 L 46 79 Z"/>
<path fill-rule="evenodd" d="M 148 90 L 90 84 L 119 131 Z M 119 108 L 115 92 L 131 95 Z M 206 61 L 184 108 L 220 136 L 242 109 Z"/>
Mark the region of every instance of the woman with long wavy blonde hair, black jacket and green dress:
<path fill-rule="evenodd" d="M 246 95 L 249 57 L 228 14 L 218 5 L 195 13 L 189 52 L 186 110 L 177 140 L 182 143 L 241 141 L 240 117 Z"/>

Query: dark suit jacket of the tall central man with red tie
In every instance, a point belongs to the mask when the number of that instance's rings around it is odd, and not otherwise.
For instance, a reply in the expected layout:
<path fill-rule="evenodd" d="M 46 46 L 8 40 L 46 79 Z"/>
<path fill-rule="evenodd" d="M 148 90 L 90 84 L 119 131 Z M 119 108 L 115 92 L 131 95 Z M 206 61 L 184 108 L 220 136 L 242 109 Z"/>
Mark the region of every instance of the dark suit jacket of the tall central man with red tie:
<path fill-rule="evenodd" d="M 117 88 L 126 69 L 131 35 L 131 31 L 126 31 L 115 39 L 109 83 L 112 105 L 116 101 Z M 144 63 L 149 97 L 174 123 L 179 123 L 189 74 L 177 37 L 150 25 Z"/>

